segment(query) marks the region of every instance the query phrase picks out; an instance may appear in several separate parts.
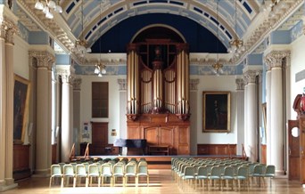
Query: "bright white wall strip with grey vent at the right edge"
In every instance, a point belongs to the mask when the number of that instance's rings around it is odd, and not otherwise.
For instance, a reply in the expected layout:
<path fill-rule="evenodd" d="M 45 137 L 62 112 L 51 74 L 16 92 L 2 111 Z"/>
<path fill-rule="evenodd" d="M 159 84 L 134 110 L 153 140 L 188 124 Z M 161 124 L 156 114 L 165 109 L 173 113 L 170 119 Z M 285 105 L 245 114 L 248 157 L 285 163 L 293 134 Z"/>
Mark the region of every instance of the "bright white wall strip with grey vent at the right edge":
<path fill-rule="evenodd" d="M 287 119 L 296 119 L 297 114 L 293 110 L 293 101 L 297 94 L 303 93 L 303 87 L 305 87 L 305 79 L 295 82 L 295 74 L 305 69 L 305 54 L 304 54 L 304 45 L 305 45 L 305 36 L 301 36 L 292 44 L 291 49 L 291 93 L 287 93 L 287 95 L 291 95 L 291 104 L 289 106 L 291 117 L 287 117 Z"/>

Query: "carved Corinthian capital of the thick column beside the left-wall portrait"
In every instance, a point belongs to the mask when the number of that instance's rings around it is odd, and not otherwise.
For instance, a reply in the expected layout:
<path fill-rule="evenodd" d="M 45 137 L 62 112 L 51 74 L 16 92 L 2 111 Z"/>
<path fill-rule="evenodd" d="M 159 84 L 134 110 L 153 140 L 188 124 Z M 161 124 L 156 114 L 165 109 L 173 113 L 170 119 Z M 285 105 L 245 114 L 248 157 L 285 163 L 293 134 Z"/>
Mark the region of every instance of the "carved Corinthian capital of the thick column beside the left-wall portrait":
<path fill-rule="evenodd" d="M 32 65 L 36 65 L 38 69 L 46 68 L 51 70 L 55 62 L 54 55 L 45 51 L 29 51 L 29 57 L 37 60 L 37 63 Z"/>

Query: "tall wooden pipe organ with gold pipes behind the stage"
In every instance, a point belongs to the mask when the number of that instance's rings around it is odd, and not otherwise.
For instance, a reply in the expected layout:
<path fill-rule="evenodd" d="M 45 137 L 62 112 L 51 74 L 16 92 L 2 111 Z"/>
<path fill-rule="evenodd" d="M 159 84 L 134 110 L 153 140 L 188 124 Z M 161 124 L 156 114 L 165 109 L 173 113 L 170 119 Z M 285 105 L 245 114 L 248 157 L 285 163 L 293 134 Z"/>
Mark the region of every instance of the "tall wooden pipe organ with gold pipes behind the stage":
<path fill-rule="evenodd" d="M 185 43 L 145 39 L 128 45 L 128 139 L 190 154 L 189 53 Z"/>

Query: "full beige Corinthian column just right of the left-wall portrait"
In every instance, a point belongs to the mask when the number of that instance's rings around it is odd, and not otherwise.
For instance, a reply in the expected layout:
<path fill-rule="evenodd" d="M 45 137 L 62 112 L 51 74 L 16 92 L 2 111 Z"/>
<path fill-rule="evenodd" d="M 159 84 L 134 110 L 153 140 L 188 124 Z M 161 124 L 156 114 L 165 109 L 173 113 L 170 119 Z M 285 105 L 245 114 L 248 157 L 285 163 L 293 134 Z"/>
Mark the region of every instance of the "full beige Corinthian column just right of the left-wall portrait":
<path fill-rule="evenodd" d="M 50 69 L 54 56 L 47 52 L 29 52 L 37 59 L 37 132 L 36 176 L 47 176 L 51 164 L 51 77 Z"/>

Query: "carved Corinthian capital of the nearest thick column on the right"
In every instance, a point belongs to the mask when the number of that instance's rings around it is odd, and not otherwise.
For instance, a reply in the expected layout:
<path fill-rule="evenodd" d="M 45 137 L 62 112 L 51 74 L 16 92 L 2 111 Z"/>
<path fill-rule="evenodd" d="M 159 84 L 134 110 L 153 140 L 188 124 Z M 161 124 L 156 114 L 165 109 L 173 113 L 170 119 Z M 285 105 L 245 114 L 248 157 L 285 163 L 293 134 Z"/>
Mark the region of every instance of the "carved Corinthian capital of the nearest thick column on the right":
<path fill-rule="evenodd" d="M 273 51 L 265 56 L 264 61 L 268 69 L 283 68 L 285 58 L 290 59 L 290 51 Z"/>

